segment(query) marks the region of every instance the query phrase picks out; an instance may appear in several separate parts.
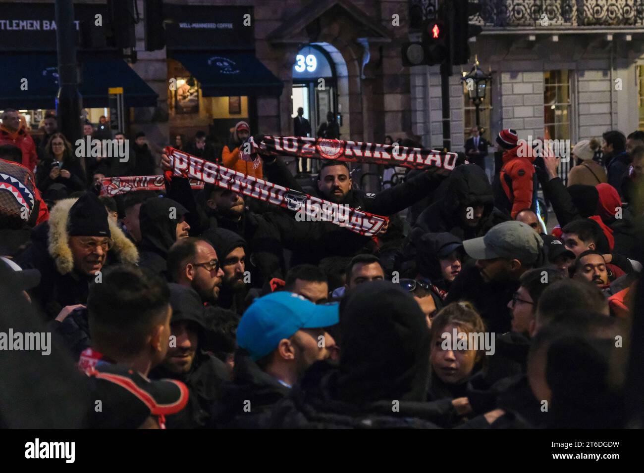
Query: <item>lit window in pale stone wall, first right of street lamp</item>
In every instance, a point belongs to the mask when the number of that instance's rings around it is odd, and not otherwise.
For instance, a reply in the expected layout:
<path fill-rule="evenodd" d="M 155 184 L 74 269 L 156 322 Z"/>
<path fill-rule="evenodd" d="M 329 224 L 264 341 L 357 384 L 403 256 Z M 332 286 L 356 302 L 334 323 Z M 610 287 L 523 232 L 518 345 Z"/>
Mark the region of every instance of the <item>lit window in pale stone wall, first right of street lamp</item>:
<path fill-rule="evenodd" d="M 544 72 L 544 139 L 570 139 L 570 73 Z"/>

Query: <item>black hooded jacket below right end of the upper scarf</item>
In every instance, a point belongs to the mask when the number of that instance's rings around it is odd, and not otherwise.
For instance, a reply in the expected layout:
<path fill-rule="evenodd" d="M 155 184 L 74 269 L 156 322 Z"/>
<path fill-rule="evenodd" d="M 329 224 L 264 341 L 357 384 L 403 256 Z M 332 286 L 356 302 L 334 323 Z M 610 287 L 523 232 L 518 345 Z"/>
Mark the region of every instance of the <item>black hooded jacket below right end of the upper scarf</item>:
<path fill-rule="evenodd" d="M 424 210 L 416 220 L 423 232 L 450 232 L 462 240 L 483 236 L 503 221 L 506 213 L 494 207 L 492 186 L 485 171 L 476 164 L 465 164 L 451 172 L 436 192 L 441 196 Z M 465 227 L 460 221 L 462 209 L 475 204 L 484 206 L 483 216 L 476 227 Z"/>

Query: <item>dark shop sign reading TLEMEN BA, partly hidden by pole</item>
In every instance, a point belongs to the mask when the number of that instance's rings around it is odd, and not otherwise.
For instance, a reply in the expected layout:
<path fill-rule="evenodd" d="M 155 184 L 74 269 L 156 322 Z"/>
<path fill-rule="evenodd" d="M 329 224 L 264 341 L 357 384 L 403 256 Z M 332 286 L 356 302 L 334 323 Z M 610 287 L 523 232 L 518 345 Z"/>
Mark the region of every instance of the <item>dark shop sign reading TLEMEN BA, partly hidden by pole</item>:
<path fill-rule="evenodd" d="M 53 3 L 3 3 L 0 8 L 0 48 L 3 51 L 55 51 L 56 15 Z M 77 44 L 106 48 L 109 28 L 106 5 L 74 5 Z"/>

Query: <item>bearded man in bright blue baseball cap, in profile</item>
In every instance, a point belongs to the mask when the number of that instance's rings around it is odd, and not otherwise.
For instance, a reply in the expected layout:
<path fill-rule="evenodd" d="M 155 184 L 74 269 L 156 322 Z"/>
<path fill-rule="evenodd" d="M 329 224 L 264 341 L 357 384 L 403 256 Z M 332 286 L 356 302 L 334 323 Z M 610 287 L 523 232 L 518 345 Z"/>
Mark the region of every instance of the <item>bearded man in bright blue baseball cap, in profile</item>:
<path fill-rule="evenodd" d="M 217 427 L 267 427 L 268 413 L 317 360 L 330 357 L 335 341 L 325 327 L 338 322 L 337 304 L 314 304 L 290 292 L 274 292 L 245 311 L 237 328 L 232 383 L 214 413 Z"/>

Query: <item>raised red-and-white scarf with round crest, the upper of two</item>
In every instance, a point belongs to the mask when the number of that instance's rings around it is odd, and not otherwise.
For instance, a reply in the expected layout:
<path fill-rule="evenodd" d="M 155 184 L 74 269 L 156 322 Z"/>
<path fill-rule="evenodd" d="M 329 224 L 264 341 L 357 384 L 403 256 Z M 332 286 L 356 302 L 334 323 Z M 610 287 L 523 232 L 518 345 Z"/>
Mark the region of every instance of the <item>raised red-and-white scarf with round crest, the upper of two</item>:
<path fill-rule="evenodd" d="M 260 155 L 298 156 L 336 160 L 348 163 L 371 163 L 426 169 L 435 166 L 451 171 L 456 166 L 456 153 L 441 153 L 435 149 L 381 145 L 307 136 L 263 136 L 256 143 L 251 136 L 240 147 L 242 159 L 254 161 Z"/>

